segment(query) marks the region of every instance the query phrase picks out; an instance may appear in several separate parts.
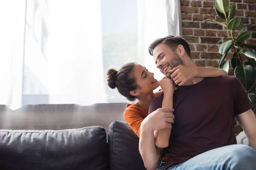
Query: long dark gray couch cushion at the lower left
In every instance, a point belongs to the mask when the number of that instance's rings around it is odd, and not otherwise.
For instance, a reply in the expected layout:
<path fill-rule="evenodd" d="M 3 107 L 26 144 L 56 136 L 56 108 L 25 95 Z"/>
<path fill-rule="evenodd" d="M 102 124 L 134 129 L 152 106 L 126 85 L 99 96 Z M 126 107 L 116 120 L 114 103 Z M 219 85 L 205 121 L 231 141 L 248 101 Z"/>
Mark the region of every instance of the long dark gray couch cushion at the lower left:
<path fill-rule="evenodd" d="M 0 169 L 106 170 L 105 129 L 0 130 Z"/>

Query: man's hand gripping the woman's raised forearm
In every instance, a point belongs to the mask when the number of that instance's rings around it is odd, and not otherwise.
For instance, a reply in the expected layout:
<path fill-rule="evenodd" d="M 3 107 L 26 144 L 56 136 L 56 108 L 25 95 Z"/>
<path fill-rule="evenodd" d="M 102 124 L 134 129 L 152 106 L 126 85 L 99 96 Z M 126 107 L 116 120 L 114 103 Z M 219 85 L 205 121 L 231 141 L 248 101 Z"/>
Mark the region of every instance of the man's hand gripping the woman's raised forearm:
<path fill-rule="evenodd" d="M 150 131 L 160 130 L 164 128 L 172 128 L 175 116 L 172 114 L 172 108 L 159 108 L 149 114 L 142 122 L 142 126 Z"/>

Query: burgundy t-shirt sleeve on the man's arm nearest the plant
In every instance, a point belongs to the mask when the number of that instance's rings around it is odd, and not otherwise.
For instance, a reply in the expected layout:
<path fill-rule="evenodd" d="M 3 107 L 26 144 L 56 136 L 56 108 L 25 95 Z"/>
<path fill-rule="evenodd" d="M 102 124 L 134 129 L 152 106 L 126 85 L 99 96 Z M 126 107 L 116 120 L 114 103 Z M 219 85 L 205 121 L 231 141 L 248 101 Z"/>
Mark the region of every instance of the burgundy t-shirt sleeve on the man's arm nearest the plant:
<path fill-rule="evenodd" d="M 240 80 L 235 78 L 235 115 L 244 113 L 253 108 L 253 105 L 250 102 L 250 99 L 247 96 L 247 93 L 244 89 L 244 86 Z"/>

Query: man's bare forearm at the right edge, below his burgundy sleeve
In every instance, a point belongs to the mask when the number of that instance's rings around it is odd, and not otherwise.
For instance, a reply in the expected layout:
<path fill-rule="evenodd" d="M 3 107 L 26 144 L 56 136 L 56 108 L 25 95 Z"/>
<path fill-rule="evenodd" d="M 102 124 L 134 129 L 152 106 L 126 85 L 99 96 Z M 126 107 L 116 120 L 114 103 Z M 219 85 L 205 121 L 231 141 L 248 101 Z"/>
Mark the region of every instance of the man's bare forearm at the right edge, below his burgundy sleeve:
<path fill-rule="evenodd" d="M 236 115 L 236 119 L 246 134 L 249 144 L 256 150 L 256 118 L 250 109 L 244 113 Z"/>

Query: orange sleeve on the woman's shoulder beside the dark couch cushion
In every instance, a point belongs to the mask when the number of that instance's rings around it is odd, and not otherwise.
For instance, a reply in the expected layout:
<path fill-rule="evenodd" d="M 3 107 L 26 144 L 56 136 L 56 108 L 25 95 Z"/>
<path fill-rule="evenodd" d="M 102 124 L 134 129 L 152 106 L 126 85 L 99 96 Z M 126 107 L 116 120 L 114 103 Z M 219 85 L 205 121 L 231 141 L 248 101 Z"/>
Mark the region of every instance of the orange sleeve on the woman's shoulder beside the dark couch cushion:
<path fill-rule="evenodd" d="M 140 125 L 144 117 L 136 109 L 127 109 L 124 113 L 125 122 L 131 127 L 131 130 L 140 137 Z"/>

